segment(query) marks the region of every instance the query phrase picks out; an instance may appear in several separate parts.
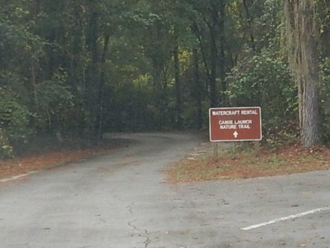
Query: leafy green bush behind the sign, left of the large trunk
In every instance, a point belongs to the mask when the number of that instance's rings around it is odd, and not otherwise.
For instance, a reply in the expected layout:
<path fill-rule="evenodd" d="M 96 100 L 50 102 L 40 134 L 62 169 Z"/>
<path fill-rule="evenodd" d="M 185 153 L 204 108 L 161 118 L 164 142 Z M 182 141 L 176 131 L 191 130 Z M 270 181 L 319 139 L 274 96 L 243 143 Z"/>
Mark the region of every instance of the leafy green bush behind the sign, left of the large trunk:
<path fill-rule="evenodd" d="M 267 143 L 276 145 L 296 136 L 296 87 L 285 62 L 264 51 L 241 61 L 227 80 L 233 106 L 261 106 Z"/>

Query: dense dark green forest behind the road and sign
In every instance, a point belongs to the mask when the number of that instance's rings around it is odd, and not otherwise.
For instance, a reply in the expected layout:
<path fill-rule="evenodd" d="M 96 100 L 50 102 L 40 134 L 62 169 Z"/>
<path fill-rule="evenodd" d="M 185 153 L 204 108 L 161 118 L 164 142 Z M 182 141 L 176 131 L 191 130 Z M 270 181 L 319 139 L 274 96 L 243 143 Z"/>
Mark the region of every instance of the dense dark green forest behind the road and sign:
<path fill-rule="evenodd" d="M 330 140 L 330 1 L 0 0 L 0 156 L 39 134 L 207 129 Z"/>

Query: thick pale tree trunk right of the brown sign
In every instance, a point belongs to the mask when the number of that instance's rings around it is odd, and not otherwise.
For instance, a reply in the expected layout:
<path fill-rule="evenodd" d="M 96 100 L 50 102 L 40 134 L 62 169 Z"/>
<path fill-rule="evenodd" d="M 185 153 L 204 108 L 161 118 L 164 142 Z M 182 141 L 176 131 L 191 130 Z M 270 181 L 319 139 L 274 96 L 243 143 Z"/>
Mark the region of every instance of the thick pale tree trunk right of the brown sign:
<path fill-rule="evenodd" d="M 298 85 L 301 143 L 320 142 L 318 53 L 315 40 L 314 1 L 287 0 L 287 46 Z"/>

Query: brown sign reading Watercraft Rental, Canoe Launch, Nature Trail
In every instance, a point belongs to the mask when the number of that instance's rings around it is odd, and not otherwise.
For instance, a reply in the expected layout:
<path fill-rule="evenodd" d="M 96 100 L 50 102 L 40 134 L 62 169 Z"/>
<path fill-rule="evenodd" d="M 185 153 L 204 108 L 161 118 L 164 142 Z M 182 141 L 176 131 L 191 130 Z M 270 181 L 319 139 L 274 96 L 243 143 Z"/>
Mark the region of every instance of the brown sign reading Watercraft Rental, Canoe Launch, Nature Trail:
<path fill-rule="evenodd" d="M 261 141 L 261 107 L 214 107 L 209 110 L 210 141 Z"/>

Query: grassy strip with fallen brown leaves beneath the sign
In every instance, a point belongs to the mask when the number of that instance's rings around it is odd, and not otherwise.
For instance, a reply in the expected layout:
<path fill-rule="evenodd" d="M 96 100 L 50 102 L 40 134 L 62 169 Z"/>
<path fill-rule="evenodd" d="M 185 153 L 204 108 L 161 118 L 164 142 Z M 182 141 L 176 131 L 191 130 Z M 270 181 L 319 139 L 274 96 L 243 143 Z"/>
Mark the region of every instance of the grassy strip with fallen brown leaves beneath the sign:
<path fill-rule="evenodd" d="M 169 183 L 204 180 L 230 180 L 298 174 L 330 169 L 330 149 L 299 145 L 283 147 L 277 152 L 262 149 L 229 149 L 218 159 L 197 156 L 172 165 L 167 171 Z"/>

